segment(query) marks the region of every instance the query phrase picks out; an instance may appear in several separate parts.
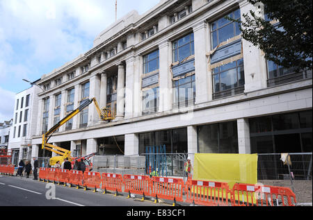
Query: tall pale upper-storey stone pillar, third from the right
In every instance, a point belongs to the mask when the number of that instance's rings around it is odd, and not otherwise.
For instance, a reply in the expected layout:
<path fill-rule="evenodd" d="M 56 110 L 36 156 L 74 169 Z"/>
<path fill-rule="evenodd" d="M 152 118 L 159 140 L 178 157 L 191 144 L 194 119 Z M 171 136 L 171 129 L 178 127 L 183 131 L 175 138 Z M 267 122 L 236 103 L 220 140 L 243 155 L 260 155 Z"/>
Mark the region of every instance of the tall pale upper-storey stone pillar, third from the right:
<path fill-rule="evenodd" d="M 171 52 L 168 40 L 159 44 L 159 60 L 159 112 L 165 112 L 172 109 Z"/>

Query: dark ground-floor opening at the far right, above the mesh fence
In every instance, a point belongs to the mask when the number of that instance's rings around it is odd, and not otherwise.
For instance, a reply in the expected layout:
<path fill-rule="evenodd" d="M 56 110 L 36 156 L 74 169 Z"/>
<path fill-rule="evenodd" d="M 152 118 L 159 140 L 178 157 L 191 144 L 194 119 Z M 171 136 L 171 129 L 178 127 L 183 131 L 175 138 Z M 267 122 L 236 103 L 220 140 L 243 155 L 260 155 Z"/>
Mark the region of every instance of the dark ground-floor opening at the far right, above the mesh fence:
<path fill-rule="evenodd" d="M 312 110 L 249 119 L 252 153 L 312 152 Z"/>

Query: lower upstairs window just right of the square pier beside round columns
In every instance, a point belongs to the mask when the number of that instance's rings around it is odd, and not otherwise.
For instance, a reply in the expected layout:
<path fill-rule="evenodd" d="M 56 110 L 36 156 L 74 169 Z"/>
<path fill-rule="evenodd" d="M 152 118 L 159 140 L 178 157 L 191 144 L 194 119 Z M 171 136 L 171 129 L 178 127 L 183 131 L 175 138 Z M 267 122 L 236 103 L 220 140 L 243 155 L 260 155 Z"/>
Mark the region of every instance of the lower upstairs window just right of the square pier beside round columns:
<path fill-rule="evenodd" d="M 157 112 L 159 107 L 159 87 L 143 91 L 143 115 Z"/>

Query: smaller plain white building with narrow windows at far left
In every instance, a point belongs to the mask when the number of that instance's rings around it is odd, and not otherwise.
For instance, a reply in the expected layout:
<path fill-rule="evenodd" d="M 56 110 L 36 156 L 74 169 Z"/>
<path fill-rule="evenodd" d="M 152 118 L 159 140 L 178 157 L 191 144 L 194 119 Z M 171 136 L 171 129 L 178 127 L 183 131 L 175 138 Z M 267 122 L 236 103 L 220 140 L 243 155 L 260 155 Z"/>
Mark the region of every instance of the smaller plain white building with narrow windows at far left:
<path fill-rule="evenodd" d="M 36 82 L 34 82 L 36 83 Z M 8 149 L 12 150 L 13 160 L 30 159 L 31 138 L 35 135 L 38 120 L 38 96 L 40 87 L 35 85 L 15 95 L 13 125 L 10 127 Z"/>

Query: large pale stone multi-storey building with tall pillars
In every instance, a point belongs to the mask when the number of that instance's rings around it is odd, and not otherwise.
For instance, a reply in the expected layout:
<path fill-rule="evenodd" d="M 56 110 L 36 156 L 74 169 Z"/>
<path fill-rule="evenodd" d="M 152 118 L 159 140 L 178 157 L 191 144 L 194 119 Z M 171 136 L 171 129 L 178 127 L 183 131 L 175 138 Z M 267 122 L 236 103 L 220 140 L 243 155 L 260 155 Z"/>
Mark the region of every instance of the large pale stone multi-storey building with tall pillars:
<path fill-rule="evenodd" d="M 312 70 L 278 67 L 243 40 L 225 16 L 249 10 L 241 0 L 161 0 L 118 19 L 38 81 L 33 150 L 42 155 L 42 133 L 95 97 L 116 119 L 99 121 L 91 104 L 51 142 L 74 155 L 141 155 L 159 144 L 167 153 L 312 152 Z"/>

